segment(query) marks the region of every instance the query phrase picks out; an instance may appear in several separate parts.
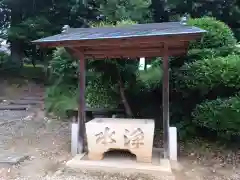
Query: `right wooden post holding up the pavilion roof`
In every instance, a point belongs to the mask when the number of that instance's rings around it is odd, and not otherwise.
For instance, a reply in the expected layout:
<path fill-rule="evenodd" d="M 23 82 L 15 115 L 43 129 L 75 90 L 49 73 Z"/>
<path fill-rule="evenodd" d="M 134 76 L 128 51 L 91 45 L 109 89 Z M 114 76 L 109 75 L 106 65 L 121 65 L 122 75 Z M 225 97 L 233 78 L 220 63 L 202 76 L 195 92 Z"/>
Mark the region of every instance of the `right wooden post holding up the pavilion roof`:
<path fill-rule="evenodd" d="M 164 158 L 169 158 L 169 55 L 168 45 L 164 43 L 163 55 L 163 84 L 162 84 L 162 107 L 163 107 L 163 144 Z"/>

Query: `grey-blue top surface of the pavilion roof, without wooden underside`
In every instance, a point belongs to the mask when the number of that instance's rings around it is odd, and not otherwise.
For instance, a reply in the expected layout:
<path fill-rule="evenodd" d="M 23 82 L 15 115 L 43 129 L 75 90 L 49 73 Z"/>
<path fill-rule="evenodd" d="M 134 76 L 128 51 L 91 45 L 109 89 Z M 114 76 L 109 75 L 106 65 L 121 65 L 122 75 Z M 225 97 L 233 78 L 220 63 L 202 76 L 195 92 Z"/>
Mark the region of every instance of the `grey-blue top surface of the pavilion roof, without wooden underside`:
<path fill-rule="evenodd" d="M 68 33 L 42 38 L 33 41 L 33 43 L 184 35 L 204 32 L 206 31 L 183 25 L 180 22 L 125 25 L 122 27 L 70 28 Z"/>

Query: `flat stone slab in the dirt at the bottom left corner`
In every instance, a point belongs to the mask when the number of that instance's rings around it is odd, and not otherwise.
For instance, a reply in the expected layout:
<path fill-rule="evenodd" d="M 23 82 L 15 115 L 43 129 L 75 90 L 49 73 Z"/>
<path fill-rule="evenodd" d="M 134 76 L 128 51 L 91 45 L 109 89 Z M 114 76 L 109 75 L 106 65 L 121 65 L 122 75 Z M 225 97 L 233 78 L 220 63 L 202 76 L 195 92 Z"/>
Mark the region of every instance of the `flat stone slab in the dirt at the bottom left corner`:
<path fill-rule="evenodd" d="M 20 155 L 15 153 L 4 153 L 0 155 L 0 164 L 6 165 L 15 165 L 23 162 L 24 160 L 28 159 L 29 156 L 27 155 Z"/>

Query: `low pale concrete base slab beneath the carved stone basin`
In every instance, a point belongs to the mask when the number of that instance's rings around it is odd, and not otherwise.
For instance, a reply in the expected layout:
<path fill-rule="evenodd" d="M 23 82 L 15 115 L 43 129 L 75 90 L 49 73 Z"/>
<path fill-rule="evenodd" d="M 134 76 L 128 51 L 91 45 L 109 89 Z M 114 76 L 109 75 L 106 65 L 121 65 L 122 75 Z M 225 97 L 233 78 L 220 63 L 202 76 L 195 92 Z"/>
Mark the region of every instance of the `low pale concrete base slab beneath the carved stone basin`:
<path fill-rule="evenodd" d="M 113 171 L 129 173 L 147 173 L 159 175 L 166 173 L 172 175 L 170 161 L 161 159 L 159 150 L 154 150 L 152 163 L 138 163 L 136 156 L 123 151 L 106 153 L 103 160 L 89 160 L 87 154 L 78 154 L 67 162 L 67 167 L 72 169 L 86 169 L 96 171 Z"/>

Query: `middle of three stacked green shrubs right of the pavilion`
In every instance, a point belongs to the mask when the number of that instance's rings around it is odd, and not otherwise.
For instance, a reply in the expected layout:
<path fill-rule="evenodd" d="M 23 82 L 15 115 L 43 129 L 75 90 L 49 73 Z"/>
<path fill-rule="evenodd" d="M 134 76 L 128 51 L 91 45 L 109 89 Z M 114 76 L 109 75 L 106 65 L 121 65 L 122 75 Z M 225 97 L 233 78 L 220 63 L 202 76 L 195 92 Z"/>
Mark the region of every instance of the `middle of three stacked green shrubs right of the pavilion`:
<path fill-rule="evenodd" d="M 229 55 L 186 63 L 177 74 L 178 90 L 199 90 L 203 94 L 214 87 L 240 88 L 240 56 Z"/>

